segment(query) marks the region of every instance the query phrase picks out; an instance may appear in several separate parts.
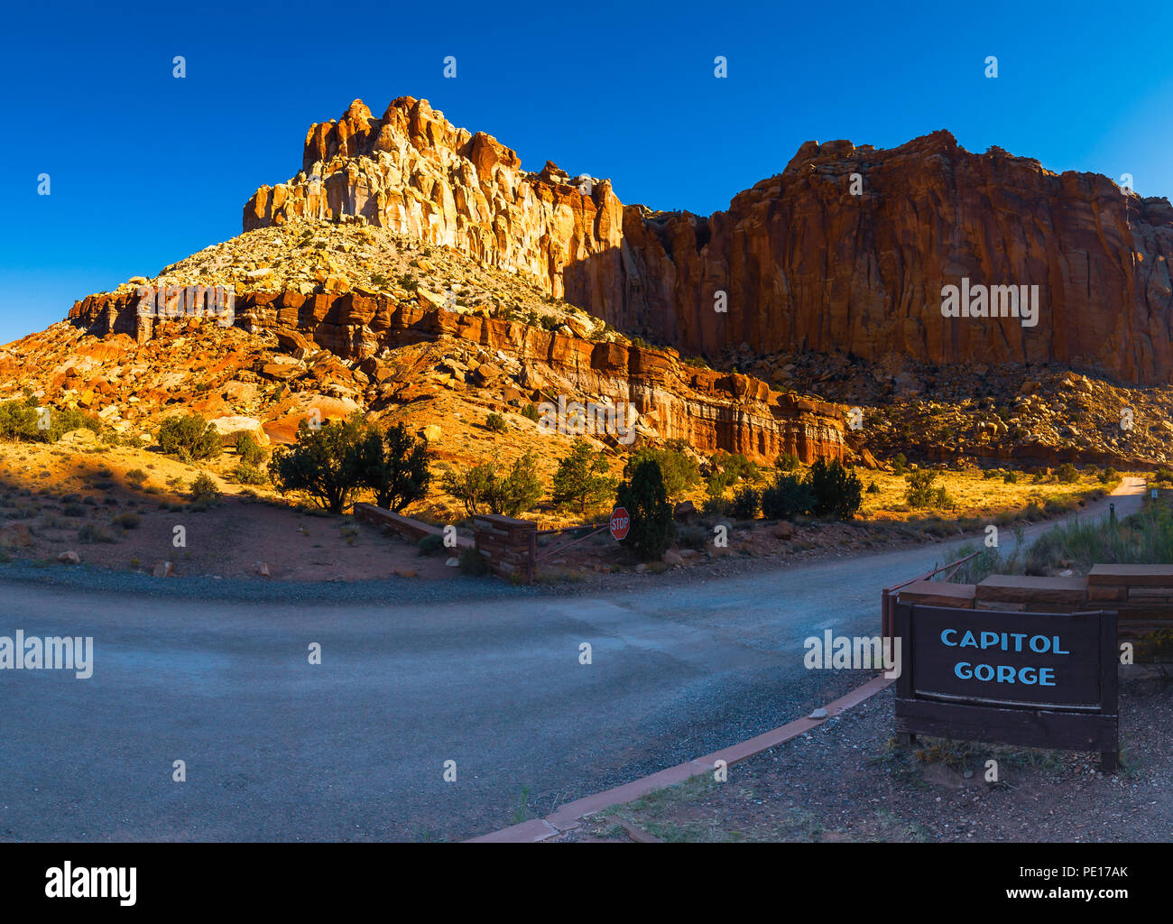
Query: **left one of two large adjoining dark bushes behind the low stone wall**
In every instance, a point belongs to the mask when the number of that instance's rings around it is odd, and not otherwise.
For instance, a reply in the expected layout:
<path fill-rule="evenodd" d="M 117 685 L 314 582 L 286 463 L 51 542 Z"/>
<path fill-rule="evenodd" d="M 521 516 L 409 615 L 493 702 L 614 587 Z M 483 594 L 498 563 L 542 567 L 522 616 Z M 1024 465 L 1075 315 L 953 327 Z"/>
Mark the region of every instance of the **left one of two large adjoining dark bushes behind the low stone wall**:
<path fill-rule="evenodd" d="M 269 460 L 269 477 L 282 494 L 304 491 L 323 510 L 340 514 L 362 483 L 359 442 L 364 435 L 358 414 L 320 427 L 303 420 L 297 442 L 278 448 Z"/>

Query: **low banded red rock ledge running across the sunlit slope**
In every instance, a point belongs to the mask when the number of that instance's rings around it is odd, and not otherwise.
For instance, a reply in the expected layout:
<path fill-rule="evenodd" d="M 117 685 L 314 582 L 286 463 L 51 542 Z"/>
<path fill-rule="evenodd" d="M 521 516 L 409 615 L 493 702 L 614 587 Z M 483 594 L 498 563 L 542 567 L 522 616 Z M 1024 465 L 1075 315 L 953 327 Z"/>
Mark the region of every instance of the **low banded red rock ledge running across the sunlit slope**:
<path fill-rule="evenodd" d="M 134 304 L 133 293 L 90 295 L 74 306 L 69 318 L 88 333 L 124 334 L 138 342 L 176 333 L 169 325 L 178 326 L 181 321 L 156 320 L 144 327 L 150 319 L 140 318 Z M 201 322 L 215 325 L 209 319 L 182 321 L 184 326 Z M 723 449 L 757 460 L 792 453 L 808 463 L 850 455 L 838 406 L 772 392 L 750 375 L 689 366 L 671 349 L 595 342 L 484 313 L 435 310 L 355 292 L 246 292 L 237 298 L 236 324 L 252 334 L 276 333 L 286 348 L 310 353 L 321 348 L 327 351 L 321 354 L 327 360 L 357 360 L 361 368 L 369 369 L 375 382 L 384 372 L 375 358 L 385 351 L 425 341 L 463 340 L 509 361 L 508 371 L 491 362 L 481 364 L 468 378 L 475 387 L 514 388 L 518 394 L 550 401 L 556 401 L 562 390 L 605 395 L 617 403 L 632 405 L 643 426 L 658 437 L 684 440 L 705 451 Z M 282 373 L 279 364 L 263 369 L 274 380 Z M 328 376 L 320 374 L 317 380 L 321 385 Z M 398 400 L 413 400 L 411 389 L 422 387 L 408 382 Z M 350 402 L 339 414 L 345 416 L 355 408 Z M 278 421 L 280 426 L 266 424 L 270 439 L 292 439 L 290 428 L 296 429 L 305 409 L 297 407 L 287 417 Z"/>

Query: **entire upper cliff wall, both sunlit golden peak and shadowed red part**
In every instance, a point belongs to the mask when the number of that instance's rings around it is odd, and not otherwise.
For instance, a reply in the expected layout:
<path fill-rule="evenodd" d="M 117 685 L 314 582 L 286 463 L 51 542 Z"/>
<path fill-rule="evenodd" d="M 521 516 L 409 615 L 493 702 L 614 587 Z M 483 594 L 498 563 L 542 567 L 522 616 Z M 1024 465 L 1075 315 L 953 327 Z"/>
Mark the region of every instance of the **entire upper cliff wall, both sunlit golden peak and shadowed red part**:
<path fill-rule="evenodd" d="M 718 356 L 795 347 L 867 360 L 1057 361 L 1140 383 L 1173 368 L 1173 208 L 1094 174 L 1044 170 L 948 131 L 876 150 L 804 144 L 705 218 L 624 208 L 426 101 L 355 101 L 306 137 L 303 171 L 262 186 L 244 227 L 364 220 L 516 272 L 621 329 Z M 942 317 L 942 287 L 1038 286 L 1035 326 Z M 718 292 L 727 310 L 716 310 Z"/>

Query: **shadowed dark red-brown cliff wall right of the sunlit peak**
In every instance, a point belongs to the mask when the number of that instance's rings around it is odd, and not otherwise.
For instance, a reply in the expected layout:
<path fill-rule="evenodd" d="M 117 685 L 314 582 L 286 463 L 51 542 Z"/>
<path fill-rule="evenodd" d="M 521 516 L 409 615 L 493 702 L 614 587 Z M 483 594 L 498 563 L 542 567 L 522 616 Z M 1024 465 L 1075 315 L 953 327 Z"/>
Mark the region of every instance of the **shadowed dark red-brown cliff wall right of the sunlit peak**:
<path fill-rule="evenodd" d="M 1143 383 L 1173 368 L 1169 203 L 947 131 L 891 150 L 808 142 L 728 211 L 628 209 L 624 233 L 644 299 L 631 320 L 682 348 L 1057 361 Z M 963 279 L 1037 285 L 1037 325 L 942 317 L 942 286 Z"/>

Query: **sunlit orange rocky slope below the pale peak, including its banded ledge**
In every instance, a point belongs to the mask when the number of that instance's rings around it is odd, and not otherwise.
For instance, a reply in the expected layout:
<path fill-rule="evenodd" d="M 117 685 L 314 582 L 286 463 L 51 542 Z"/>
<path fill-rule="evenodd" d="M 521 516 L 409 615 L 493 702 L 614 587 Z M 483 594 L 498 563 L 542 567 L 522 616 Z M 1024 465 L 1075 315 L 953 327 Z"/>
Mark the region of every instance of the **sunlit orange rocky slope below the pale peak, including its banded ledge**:
<path fill-rule="evenodd" d="M 235 325 L 137 311 L 144 285 L 192 284 L 231 287 Z M 541 434 L 520 412 L 561 395 L 630 406 L 636 440 L 683 440 L 700 453 L 759 460 L 855 457 L 834 405 L 635 344 L 459 252 L 301 219 L 79 301 L 67 324 L 0 351 L 0 394 L 21 389 L 95 410 L 144 440 L 177 406 L 225 433 L 253 429 L 274 442 L 292 440 L 314 410 L 404 419 L 436 441 L 503 413 L 518 433 L 500 455 L 536 441 L 544 443 L 538 454 L 552 457 L 574 434 Z M 629 444 L 617 433 L 595 436 L 616 451 Z M 483 456 L 456 453 L 453 461 Z"/>

